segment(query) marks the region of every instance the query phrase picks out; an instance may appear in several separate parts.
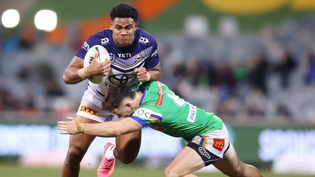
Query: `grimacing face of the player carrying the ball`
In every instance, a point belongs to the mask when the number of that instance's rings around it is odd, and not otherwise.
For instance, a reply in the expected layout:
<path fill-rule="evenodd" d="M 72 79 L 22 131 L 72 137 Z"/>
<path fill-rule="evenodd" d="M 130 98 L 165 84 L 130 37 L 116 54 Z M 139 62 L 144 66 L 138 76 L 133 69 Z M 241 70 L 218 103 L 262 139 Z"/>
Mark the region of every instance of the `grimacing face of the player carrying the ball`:
<path fill-rule="evenodd" d="M 109 27 L 113 31 L 113 40 L 118 47 L 126 47 L 135 38 L 138 22 L 132 18 L 118 18 L 109 22 Z"/>

